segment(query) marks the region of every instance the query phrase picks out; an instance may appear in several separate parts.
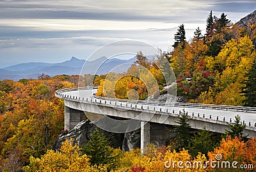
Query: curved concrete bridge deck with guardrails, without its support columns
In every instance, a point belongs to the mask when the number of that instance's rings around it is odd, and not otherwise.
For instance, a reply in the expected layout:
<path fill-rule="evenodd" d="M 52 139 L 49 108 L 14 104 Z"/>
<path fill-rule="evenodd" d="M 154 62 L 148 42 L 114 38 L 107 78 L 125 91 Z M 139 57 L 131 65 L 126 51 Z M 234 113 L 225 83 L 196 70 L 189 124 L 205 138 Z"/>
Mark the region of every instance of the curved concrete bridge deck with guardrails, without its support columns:
<path fill-rule="evenodd" d="M 239 114 L 241 116 L 241 121 L 246 124 L 246 129 L 244 129 L 244 134 L 249 134 L 248 137 L 256 136 L 256 108 L 255 107 L 240 107 L 240 106 L 221 106 L 212 104 L 187 104 L 178 102 L 156 102 L 156 101 L 134 101 L 134 100 L 124 100 L 116 98 L 104 98 L 96 97 L 94 93 L 97 89 L 92 88 L 68 88 L 56 91 L 56 97 L 63 98 L 65 100 L 65 106 L 82 110 L 81 104 L 86 106 L 100 106 L 104 108 L 119 108 L 126 109 L 135 112 L 145 112 L 145 113 L 156 113 L 164 114 L 173 117 L 177 121 L 179 114 L 182 113 L 184 109 L 188 113 L 189 118 L 191 118 L 191 127 L 195 129 L 202 129 L 206 126 L 214 132 L 225 132 L 228 127 L 228 123 L 234 123 L 235 116 Z M 79 103 L 79 105 L 77 105 Z M 74 105 L 76 104 L 76 105 Z M 103 109 L 104 109 L 103 108 Z M 111 110 L 111 114 L 108 111 L 102 112 L 102 114 L 113 115 L 115 112 Z M 90 108 L 90 112 L 95 113 L 93 108 Z M 98 112 L 99 113 L 99 112 Z M 116 116 L 120 116 L 116 114 Z M 121 115 L 122 116 L 122 115 Z M 122 116 L 123 118 L 131 118 L 129 114 L 127 116 Z M 140 119 L 143 121 L 143 119 Z M 166 123 L 173 125 L 173 120 L 169 121 L 157 121 L 153 122 Z M 223 126 L 223 127 L 222 127 Z M 218 129 L 221 128 L 221 129 Z"/>

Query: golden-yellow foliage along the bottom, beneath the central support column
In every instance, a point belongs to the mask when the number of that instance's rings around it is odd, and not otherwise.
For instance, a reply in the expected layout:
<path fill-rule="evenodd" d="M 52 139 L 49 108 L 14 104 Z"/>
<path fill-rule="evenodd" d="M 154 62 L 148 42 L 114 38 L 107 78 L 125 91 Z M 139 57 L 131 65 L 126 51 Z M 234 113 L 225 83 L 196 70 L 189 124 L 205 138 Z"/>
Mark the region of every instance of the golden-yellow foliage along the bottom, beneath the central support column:
<path fill-rule="evenodd" d="M 202 153 L 198 153 L 198 156 L 193 159 L 188 150 L 183 149 L 176 152 L 171 147 L 158 150 L 154 145 L 149 145 L 149 147 L 149 152 L 146 149 L 144 155 L 141 155 L 139 149 L 125 152 L 120 158 L 120 168 L 116 169 L 116 171 L 129 171 L 132 168 L 140 168 L 141 171 L 145 172 L 206 171 L 204 164 L 207 159 Z M 179 162 L 182 162 L 182 164 L 178 166 Z"/>

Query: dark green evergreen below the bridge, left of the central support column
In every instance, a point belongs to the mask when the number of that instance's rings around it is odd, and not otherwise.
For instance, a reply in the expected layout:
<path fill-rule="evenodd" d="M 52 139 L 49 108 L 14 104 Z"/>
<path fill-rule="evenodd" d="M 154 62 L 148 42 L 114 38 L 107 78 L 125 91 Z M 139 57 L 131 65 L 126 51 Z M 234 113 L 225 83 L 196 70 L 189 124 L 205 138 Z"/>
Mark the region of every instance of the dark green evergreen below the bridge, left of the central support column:
<path fill-rule="evenodd" d="M 109 141 L 104 134 L 95 130 L 91 139 L 82 147 L 82 152 L 90 158 L 92 165 L 108 164 L 111 166 L 115 162 L 113 149 L 109 146 Z"/>

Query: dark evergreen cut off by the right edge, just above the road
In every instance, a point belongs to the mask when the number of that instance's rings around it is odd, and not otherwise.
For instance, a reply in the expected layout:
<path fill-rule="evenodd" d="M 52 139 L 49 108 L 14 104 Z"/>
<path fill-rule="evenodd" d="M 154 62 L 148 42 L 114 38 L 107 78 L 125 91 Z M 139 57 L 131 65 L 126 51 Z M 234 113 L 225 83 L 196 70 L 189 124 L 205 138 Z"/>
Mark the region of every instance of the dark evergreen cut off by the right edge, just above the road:
<path fill-rule="evenodd" d="M 256 60 L 253 61 L 252 68 L 248 72 L 248 79 L 244 87 L 245 106 L 256 107 Z"/>

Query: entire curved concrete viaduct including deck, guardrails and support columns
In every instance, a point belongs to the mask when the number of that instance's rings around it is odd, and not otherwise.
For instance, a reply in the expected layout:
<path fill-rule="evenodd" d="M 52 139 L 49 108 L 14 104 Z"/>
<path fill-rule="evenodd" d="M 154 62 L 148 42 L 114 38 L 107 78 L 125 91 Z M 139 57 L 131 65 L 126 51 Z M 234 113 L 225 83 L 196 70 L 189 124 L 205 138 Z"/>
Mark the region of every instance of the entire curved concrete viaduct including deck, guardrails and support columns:
<path fill-rule="evenodd" d="M 211 104 L 186 104 L 171 102 L 145 102 L 116 98 L 96 97 L 93 88 L 67 88 L 57 90 L 56 97 L 65 103 L 65 129 L 71 130 L 84 120 L 84 112 L 135 119 L 140 123 L 141 148 L 156 141 L 165 144 L 165 125 L 177 125 L 180 113 L 188 113 L 193 129 L 210 130 L 225 133 L 228 123 L 234 122 L 239 114 L 241 122 L 246 124 L 244 134 L 256 137 L 256 108 L 239 106 L 220 106 Z M 139 115 L 143 113 L 143 115 Z M 150 116 L 150 118 L 148 118 Z M 165 116 L 164 121 L 161 116 Z"/>

